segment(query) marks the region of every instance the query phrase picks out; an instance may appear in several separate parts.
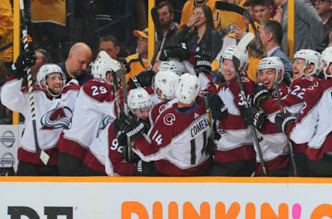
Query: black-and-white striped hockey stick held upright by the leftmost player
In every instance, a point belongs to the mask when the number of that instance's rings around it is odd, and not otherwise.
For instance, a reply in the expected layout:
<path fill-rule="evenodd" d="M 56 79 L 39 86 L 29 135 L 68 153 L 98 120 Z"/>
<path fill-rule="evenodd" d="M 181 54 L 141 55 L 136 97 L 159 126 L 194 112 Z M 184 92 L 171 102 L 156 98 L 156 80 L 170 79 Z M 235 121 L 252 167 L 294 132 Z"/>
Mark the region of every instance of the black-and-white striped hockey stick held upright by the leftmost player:
<path fill-rule="evenodd" d="M 22 19 L 22 35 L 23 35 L 24 51 L 27 53 L 29 44 L 28 44 L 28 28 L 26 26 L 26 18 L 24 15 L 24 0 L 19 1 L 19 10 L 21 11 L 21 19 Z M 31 68 L 28 68 L 27 75 L 28 75 L 28 89 L 29 89 L 29 98 L 30 98 L 30 112 L 31 112 L 31 120 L 33 121 L 33 135 L 35 137 L 35 147 L 39 155 L 39 158 L 43 161 L 45 165 L 47 165 L 50 156 L 40 148 L 37 136 L 35 101 L 33 100 L 33 74 L 31 73 Z"/>

